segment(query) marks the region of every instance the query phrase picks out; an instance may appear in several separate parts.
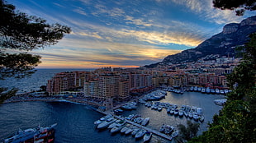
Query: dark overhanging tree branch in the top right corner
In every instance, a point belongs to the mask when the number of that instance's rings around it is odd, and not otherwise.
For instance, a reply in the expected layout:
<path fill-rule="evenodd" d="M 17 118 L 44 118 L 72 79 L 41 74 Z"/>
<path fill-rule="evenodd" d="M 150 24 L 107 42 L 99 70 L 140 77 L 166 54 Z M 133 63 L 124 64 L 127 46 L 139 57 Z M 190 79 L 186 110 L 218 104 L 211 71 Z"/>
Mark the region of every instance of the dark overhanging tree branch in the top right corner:
<path fill-rule="evenodd" d="M 237 16 L 243 16 L 245 11 L 255 11 L 255 0 L 213 0 L 213 7 L 221 10 L 235 10 Z"/>

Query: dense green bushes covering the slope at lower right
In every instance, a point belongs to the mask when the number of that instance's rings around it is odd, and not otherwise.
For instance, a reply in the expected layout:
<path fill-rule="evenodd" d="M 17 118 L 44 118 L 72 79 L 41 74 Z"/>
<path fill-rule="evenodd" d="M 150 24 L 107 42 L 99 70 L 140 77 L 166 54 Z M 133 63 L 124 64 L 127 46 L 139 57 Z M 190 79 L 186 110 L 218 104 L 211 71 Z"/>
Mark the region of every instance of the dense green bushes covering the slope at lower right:
<path fill-rule="evenodd" d="M 233 91 L 225 106 L 191 142 L 256 142 L 256 34 L 243 49 L 243 60 L 228 76 Z"/>

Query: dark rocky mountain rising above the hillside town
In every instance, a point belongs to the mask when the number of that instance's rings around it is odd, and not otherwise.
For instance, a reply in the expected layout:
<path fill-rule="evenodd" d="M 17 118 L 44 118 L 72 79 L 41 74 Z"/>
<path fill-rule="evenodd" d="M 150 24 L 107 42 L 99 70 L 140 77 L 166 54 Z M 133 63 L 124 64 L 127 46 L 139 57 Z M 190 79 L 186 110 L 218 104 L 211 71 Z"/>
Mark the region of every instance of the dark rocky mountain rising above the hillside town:
<path fill-rule="evenodd" d="M 169 55 L 159 63 L 193 62 L 198 58 L 206 57 L 209 54 L 235 55 L 235 47 L 243 45 L 249 34 L 256 32 L 256 16 L 249 17 L 240 23 L 230 23 L 223 27 L 223 31 L 206 39 L 196 48 L 184 50 L 181 53 Z M 156 65 L 157 64 L 152 64 Z"/>

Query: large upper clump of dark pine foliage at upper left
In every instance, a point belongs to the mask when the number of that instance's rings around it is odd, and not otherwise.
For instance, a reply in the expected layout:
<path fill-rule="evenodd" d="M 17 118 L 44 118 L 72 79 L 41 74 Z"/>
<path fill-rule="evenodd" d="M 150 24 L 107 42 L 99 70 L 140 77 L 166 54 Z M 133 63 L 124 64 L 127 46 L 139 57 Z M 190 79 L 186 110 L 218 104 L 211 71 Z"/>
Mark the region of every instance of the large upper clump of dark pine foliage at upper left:
<path fill-rule="evenodd" d="M 70 28 L 58 23 L 50 25 L 44 19 L 16 12 L 15 7 L 0 1 L 0 47 L 32 50 L 57 44 Z"/>

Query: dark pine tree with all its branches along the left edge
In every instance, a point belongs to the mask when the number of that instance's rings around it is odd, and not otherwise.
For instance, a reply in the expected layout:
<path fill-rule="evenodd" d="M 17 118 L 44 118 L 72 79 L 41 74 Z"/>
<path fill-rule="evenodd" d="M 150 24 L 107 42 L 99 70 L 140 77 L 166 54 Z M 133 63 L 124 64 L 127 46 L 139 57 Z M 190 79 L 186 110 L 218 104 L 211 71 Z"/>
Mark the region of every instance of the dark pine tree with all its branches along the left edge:
<path fill-rule="evenodd" d="M 29 51 L 57 44 L 70 28 L 58 23 L 48 24 L 42 18 L 17 12 L 12 4 L 0 0 L 0 80 L 7 77 L 30 76 L 40 63 L 39 55 Z M 0 96 L 7 89 L 0 87 Z M 3 98 L 5 99 L 5 98 Z"/>

